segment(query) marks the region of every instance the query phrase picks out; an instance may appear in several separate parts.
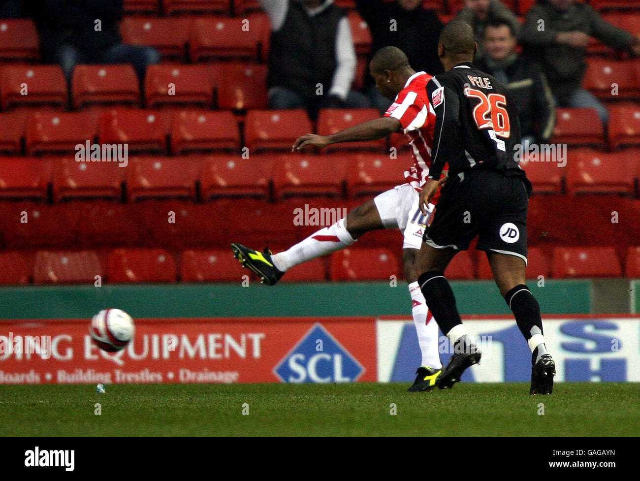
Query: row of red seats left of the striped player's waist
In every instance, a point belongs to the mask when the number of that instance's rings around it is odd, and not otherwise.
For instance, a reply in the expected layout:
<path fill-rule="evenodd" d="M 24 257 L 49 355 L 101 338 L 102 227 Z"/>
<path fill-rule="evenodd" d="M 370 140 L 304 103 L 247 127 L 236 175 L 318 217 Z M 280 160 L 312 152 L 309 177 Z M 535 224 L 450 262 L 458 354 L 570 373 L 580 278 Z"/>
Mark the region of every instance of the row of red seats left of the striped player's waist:
<path fill-rule="evenodd" d="M 0 197 L 121 200 L 123 182 L 129 200 L 187 198 L 197 190 L 204 200 L 253 196 L 276 199 L 295 195 L 341 198 L 375 194 L 404 182 L 397 160 L 374 154 L 262 155 L 242 159 L 204 157 L 131 157 L 124 162 L 78 162 L 74 156 L 38 159 L 0 157 Z"/>

